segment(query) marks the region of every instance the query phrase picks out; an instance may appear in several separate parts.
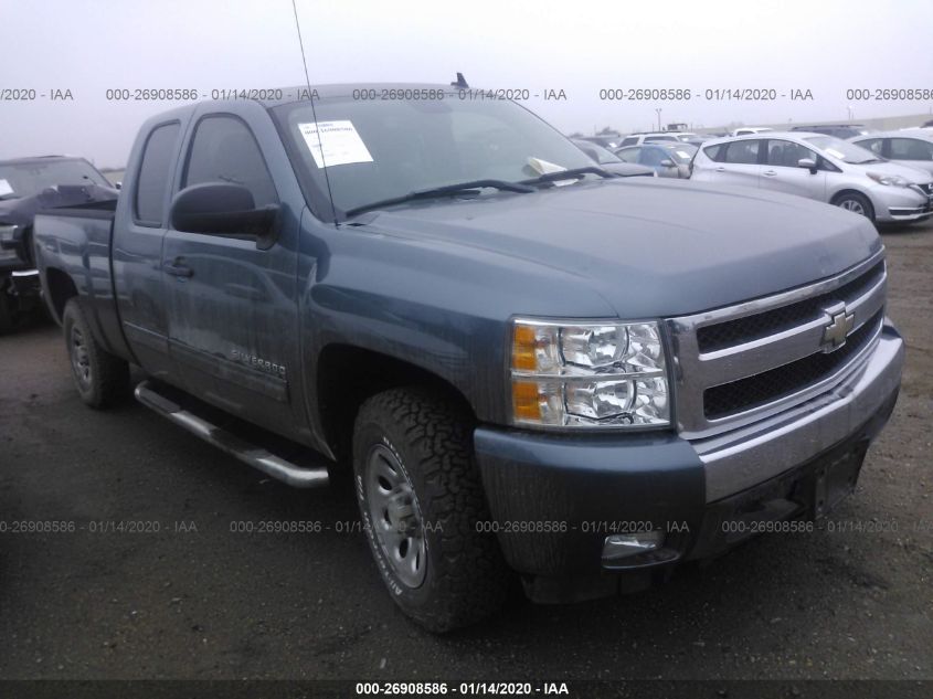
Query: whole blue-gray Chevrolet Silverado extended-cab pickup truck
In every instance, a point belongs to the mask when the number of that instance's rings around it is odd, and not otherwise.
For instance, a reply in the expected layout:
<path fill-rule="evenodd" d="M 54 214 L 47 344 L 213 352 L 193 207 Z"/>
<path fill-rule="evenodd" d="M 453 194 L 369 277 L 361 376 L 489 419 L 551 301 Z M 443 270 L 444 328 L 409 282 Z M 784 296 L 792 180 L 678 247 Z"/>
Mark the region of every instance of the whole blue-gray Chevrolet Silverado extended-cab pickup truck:
<path fill-rule="evenodd" d="M 118 200 L 39 215 L 34 245 L 86 403 L 135 366 L 141 403 L 265 474 L 346 474 L 437 632 L 516 574 L 594 599 L 820 517 L 903 363 L 867 219 L 621 179 L 436 85 L 167 112 Z"/>

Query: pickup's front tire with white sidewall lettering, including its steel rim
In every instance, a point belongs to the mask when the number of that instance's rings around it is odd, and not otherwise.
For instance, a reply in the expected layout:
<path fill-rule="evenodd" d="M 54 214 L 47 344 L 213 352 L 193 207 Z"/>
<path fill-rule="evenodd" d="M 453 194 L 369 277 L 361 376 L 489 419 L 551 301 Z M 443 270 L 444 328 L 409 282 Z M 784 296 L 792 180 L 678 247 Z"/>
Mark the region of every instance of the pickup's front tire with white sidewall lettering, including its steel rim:
<path fill-rule="evenodd" d="M 435 633 L 496 612 L 509 572 L 473 458 L 470 423 L 449 401 L 394 389 L 367 401 L 353 433 L 363 529 L 402 611 Z"/>

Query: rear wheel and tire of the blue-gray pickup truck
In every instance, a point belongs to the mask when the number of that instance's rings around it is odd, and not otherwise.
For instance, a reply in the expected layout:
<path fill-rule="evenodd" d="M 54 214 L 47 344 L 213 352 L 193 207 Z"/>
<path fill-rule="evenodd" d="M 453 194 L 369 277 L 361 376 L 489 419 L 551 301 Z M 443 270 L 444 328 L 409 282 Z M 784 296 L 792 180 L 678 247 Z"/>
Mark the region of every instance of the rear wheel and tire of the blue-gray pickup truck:
<path fill-rule="evenodd" d="M 129 393 L 129 364 L 100 347 L 77 298 L 65 304 L 62 326 L 81 400 L 98 410 L 123 401 Z"/>

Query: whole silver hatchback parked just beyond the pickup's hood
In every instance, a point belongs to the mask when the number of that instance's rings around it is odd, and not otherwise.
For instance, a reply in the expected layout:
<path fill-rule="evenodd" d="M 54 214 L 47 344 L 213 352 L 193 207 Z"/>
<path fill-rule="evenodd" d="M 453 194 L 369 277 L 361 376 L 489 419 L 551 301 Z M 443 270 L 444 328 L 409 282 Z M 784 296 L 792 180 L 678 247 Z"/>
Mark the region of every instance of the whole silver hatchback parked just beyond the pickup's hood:
<path fill-rule="evenodd" d="M 744 184 L 836 204 L 872 221 L 918 221 L 933 212 L 933 177 L 824 134 L 768 131 L 708 141 L 692 179 Z"/>

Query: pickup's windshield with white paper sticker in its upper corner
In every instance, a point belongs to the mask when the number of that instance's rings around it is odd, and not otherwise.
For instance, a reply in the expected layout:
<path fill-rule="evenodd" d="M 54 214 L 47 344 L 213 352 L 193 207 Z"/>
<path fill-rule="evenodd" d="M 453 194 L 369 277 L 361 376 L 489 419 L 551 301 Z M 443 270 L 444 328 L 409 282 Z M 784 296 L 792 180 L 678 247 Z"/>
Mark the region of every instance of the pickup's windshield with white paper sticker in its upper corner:
<path fill-rule="evenodd" d="M 316 100 L 315 110 L 317 125 L 309 103 L 275 109 L 298 166 L 319 193 L 329 184 L 344 212 L 459 182 L 527 180 L 542 173 L 542 163 L 593 167 L 563 135 L 509 100 L 464 100 L 456 92 L 424 102 L 343 97 Z"/>

